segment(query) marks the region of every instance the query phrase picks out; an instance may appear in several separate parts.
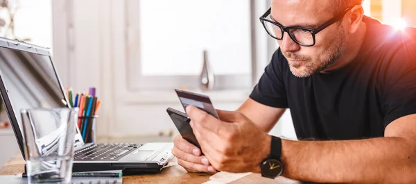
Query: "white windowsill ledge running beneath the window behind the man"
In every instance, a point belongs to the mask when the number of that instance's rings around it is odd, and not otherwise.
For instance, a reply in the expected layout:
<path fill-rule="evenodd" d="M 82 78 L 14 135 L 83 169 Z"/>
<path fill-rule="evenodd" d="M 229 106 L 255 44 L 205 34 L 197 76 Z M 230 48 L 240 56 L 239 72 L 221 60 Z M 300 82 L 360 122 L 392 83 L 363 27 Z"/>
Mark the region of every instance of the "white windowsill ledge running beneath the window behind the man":
<path fill-rule="evenodd" d="M 213 103 L 242 103 L 250 95 L 252 89 L 248 90 L 213 90 L 202 92 L 200 90 L 191 90 L 200 94 L 207 95 Z M 122 103 L 177 103 L 177 95 L 175 91 L 155 90 L 155 91 L 141 91 L 132 92 L 123 97 Z"/>

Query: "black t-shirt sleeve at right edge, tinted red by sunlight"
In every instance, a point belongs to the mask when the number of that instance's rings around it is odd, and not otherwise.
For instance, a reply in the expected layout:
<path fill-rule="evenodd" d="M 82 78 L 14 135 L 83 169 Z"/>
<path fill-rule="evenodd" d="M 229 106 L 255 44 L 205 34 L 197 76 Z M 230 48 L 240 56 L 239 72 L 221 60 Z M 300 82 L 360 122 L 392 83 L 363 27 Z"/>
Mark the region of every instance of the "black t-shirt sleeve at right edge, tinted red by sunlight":
<path fill-rule="evenodd" d="M 416 47 L 403 44 L 392 51 L 381 79 L 384 127 L 395 119 L 416 114 Z"/>

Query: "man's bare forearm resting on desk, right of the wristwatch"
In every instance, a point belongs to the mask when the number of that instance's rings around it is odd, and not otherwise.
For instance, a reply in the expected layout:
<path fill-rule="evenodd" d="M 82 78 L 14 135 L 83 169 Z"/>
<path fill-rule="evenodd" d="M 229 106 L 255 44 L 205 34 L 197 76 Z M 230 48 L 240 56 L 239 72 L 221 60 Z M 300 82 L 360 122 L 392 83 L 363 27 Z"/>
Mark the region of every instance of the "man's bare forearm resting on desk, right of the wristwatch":
<path fill-rule="evenodd" d="M 318 183 L 415 183 L 415 147 L 399 137 L 282 140 L 284 174 Z M 413 178 L 412 178 L 413 177 Z"/>

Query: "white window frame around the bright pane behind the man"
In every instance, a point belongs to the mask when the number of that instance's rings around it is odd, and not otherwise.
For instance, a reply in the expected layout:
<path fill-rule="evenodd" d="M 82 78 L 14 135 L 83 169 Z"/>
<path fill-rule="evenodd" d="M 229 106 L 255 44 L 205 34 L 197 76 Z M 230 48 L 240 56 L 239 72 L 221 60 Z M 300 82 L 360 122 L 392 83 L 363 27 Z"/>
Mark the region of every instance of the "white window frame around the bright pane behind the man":
<path fill-rule="evenodd" d="M 250 74 L 227 74 L 215 75 L 214 90 L 229 90 L 229 89 L 249 89 L 257 83 L 257 30 L 255 27 L 261 26 L 258 22 L 258 17 L 263 12 L 257 12 L 256 7 L 259 1 L 250 0 Z M 263 3 L 263 2 L 261 2 Z M 261 4 L 260 3 L 260 4 Z M 140 2 L 137 0 L 127 0 L 125 3 L 125 42 L 126 45 L 126 64 L 127 69 L 127 86 L 132 91 L 140 90 L 171 90 L 175 87 L 188 87 L 190 89 L 200 88 L 198 85 L 199 76 L 144 76 L 141 74 L 141 60 L 140 52 L 137 52 L 137 46 L 133 47 L 132 40 L 139 40 L 139 34 L 135 26 L 140 25 L 139 11 L 137 7 Z M 135 8 L 130 8 L 135 7 Z M 266 8 L 266 6 L 265 6 Z M 260 14 L 259 14 L 260 13 Z M 131 19 L 130 17 L 136 17 Z M 133 49 L 135 51 L 132 51 Z M 140 48 L 140 46 L 139 46 Z M 201 53 L 202 58 L 202 53 Z"/>

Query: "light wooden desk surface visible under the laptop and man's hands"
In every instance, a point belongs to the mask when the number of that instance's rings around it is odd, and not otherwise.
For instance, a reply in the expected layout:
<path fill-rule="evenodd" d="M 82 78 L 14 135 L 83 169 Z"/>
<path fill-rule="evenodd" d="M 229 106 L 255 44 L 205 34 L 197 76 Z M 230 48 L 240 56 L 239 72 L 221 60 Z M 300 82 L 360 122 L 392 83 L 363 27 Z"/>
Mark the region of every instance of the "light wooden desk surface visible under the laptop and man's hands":
<path fill-rule="evenodd" d="M 15 175 L 24 172 L 24 160 L 20 152 L 6 162 L 0 168 L 0 175 Z M 172 162 L 169 167 L 162 169 L 159 174 L 142 174 L 136 176 L 123 176 L 123 183 L 205 183 L 209 181 L 211 174 L 189 173 L 180 165 Z M 298 184 L 293 181 L 286 181 L 284 178 L 276 180 L 263 178 L 260 174 L 250 174 L 232 183 L 287 183 Z"/>

